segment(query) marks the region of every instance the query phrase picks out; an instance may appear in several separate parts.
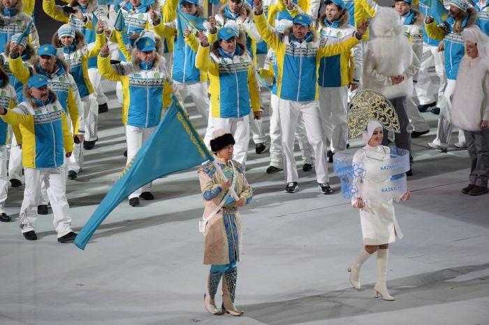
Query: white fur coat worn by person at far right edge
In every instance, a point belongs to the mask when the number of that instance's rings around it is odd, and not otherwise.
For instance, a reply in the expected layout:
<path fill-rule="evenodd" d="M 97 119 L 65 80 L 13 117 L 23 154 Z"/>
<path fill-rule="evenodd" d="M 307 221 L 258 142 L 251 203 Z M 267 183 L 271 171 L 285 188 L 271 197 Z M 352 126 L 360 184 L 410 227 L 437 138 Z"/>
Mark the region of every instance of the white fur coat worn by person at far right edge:
<path fill-rule="evenodd" d="M 481 121 L 489 120 L 489 59 L 460 62 L 452 99 L 452 123 L 466 131 L 480 131 Z"/>

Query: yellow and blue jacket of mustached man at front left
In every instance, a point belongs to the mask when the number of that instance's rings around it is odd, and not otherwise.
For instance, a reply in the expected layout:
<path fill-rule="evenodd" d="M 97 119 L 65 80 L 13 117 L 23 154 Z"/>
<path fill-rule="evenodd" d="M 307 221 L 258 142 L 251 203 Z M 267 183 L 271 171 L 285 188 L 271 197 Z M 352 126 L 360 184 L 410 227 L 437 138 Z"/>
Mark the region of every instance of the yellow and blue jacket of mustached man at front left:
<path fill-rule="evenodd" d="M 20 125 L 24 167 L 61 167 L 64 152 L 73 151 L 66 114 L 52 91 L 47 104 L 38 107 L 31 100 L 25 101 L 0 117 L 6 123 Z"/>

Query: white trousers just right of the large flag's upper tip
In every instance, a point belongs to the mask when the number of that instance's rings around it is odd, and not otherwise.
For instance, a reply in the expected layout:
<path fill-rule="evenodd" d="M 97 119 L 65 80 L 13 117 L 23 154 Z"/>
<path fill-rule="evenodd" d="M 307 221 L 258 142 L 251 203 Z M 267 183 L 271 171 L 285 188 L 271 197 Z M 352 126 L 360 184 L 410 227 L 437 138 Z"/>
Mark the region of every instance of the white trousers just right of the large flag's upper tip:
<path fill-rule="evenodd" d="M 198 113 L 207 120 L 204 142 L 206 139 L 210 142 L 210 139 L 212 139 L 212 123 L 209 123 L 209 121 L 212 121 L 212 119 L 209 118 L 210 100 L 207 96 L 207 82 L 196 82 L 195 84 L 182 84 L 182 82 L 177 81 L 174 82 L 180 96 L 182 96 L 182 100 L 185 100 L 185 98 L 190 96 L 196 105 Z"/>

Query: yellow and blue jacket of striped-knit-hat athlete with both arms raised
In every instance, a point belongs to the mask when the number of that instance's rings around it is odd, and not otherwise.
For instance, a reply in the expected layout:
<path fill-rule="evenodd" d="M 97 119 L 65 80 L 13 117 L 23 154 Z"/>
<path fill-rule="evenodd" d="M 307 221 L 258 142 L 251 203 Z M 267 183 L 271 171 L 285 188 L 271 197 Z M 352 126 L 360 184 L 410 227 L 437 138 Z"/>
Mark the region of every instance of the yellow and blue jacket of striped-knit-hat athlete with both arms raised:
<path fill-rule="evenodd" d="M 61 47 L 63 50 L 64 61 L 70 67 L 70 73 L 78 86 L 78 93 L 80 93 L 81 98 L 84 98 L 94 92 L 92 82 L 88 77 L 88 62 L 90 58 L 96 59 L 98 52 L 105 45 L 105 34 L 96 33 L 94 43 L 85 44 L 82 38 L 75 38 L 75 42 L 78 44 L 63 46 L 59 42 L 58 33 L 54 33 L 52 37 L 52 45 Z"/>

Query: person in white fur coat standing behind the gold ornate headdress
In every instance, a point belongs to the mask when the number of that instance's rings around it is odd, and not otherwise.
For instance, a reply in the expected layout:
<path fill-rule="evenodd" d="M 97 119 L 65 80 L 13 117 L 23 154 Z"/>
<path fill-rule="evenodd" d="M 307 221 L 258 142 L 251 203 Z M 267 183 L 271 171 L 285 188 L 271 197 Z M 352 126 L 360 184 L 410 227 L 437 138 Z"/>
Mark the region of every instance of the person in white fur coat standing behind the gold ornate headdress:
<path fill-rule="evenodd" d="M 363 89 L 379 91 L 391 101 L 400 123 L 395 146 L 411 153 L 406 98 L 413 94 L 413 76 L 419 70 L 420 63 L 409 40 L 403 36 L 402 22 L 393 8 L 380 7 L 371 27 L 375 37 L 370 40 L 365 54 Z M 387 145 L 387 139 L 387 130 L 384 130 L 384 145 Z M 411 176 L 412 171 L 406 174 Z"/>

